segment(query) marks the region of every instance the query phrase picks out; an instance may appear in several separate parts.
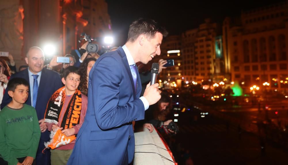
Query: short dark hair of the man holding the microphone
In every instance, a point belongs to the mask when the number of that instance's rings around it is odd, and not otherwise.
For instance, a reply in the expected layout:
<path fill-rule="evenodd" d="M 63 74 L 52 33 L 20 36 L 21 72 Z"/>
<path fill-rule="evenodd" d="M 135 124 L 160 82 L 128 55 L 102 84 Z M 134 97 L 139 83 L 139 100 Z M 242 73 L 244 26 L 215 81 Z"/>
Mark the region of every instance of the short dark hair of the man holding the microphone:
<path fill-rule="evenodd" d="M 159 32 L 166 37 L 168 32 L 157 22 L 151 19 L 140 18 L 129 26 L 127 42 L 134 42 L 141 34 L 146 35 L 148 40 L 152 39 Z"/>

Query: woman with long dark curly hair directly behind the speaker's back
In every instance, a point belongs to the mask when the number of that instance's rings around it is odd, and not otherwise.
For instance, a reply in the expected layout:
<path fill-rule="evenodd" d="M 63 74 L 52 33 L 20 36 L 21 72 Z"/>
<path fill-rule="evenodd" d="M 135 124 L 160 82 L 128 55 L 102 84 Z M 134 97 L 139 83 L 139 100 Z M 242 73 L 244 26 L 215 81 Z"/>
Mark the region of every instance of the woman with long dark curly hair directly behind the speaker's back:
<path fill-rule="evenodd" d="M 80 71 L 80 84 L 79 84 L 79 90 L 84 94 L 88 95 L 88 78 L 91 68 L 93 67 L 96 59 L 94 58 L 88 58 L 83 61 L 83 63 L 79 67 Z"/>

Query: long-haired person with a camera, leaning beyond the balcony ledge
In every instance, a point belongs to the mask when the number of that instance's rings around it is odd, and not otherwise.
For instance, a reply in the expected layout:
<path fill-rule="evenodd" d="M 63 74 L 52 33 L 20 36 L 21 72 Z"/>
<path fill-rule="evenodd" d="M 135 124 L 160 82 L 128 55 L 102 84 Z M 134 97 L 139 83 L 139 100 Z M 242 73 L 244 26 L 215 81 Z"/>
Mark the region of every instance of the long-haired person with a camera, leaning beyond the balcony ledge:
<path fill-rule="evenodd" d="M 171 104 L 170 97 L 163 92 L 161 93 L 161 99 L 156 104 L 149 107 L 149 109 L 145 112 L 145 119 L 148 121 L 148 123 L 153 124 L 160 133 L 164 132 L 166 134 L 177 133 L 177 131 L 169 129 L 169 124 L 172 122 L 172 120 L 167 120 L 171 109 L 170 104 Z"/>

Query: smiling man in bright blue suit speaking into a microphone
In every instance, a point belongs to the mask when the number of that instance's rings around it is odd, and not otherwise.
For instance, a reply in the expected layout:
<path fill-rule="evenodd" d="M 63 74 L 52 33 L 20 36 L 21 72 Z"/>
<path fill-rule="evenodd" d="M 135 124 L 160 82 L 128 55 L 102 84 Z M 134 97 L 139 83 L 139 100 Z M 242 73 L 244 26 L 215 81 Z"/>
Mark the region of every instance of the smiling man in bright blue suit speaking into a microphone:
<path fill-rule="evenodd" d="M 128 164 L 134 157 L 132 121 L 161 98 L 159 84 L 147 85 L 143 97 L 135 63 L 160 55 L 167 32 L 154 20 L 139 19 L 126 44 L 100 56 L 89 74 L 88 108 L 67 164 Z M 139 98 L 140 97 L 140 98 Z"/>

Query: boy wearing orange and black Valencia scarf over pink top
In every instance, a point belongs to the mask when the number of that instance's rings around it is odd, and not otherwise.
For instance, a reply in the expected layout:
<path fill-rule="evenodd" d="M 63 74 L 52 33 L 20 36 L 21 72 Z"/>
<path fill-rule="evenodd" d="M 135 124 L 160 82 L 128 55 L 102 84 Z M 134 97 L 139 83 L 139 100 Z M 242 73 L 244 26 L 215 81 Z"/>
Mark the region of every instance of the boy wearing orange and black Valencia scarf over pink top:
<path fill-rule="evenodd" d="M 80 83 L 78 68 L 74 66 L 67 67 L 63 72 L 62 83 L 65 86 L 52 95 L 47 104 L 44 117 L 48 130 L 51 131 L 51 141 L 46 143 L 46 147 L 50 147 L 49 145 L 52 145 L 53 140 L 61 139 L 61 142 L 54 146 L 56 149 L 51 147 L 53 149 L 51 150 L 52 165 L 67 164 L 75 140 L 69 141 L 66 139 L 75 139 L 84 122 L 87 110 L 87 96 L 77 89 Z M 58 130 L 61 130 L 61 132 Z M 58 136 L 57 131 L 61 133 L 60 137 L 55 137 Z"/>

